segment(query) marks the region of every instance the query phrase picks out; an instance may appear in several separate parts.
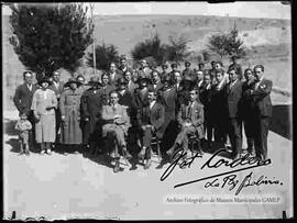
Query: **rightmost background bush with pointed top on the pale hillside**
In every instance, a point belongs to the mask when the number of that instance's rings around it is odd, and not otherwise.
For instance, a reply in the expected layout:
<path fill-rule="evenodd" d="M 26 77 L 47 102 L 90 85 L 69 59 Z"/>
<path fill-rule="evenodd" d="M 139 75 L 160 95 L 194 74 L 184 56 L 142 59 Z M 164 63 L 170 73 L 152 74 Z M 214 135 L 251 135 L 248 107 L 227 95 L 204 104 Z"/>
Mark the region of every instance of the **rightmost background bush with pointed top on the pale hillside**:
<path fill-rule="evenodd" d="M 239 58 L 246 55 L 243 41 L 239 37 L 239 31 L 234 24 L 229 33 L 219 33 L 208 38 L 207 47 L 210 52 L 218 54 L 221 59 L 224 56 L 235 55 Z"/>

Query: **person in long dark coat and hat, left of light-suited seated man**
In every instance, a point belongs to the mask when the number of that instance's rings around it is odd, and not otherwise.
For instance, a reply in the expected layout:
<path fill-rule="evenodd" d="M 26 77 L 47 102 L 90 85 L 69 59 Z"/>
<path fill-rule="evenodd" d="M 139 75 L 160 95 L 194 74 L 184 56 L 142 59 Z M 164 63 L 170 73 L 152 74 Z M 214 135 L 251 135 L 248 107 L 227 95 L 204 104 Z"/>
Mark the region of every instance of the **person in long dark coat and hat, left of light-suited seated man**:
<path fill-rule="evenodd" d="M 99 77 L 91 77 L 88 82 L 90 88 L 85 91 L 81 97 L 81 129 L 82 143 L 90 148 L 90 156 L 97 152 L 96 146 L 100 142 L 100 110 L 102 109 L 101 91 L 99 90 L 101 83 Z"/>

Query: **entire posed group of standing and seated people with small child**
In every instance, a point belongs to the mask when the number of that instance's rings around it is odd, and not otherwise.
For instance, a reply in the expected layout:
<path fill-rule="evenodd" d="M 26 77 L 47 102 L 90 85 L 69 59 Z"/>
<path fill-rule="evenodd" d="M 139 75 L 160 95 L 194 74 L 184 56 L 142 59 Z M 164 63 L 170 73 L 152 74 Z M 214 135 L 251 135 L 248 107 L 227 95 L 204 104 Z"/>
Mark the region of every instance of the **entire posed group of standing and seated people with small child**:
<path fill-rule="evenodd" d="M 15 125 L 20 152 L 30 154 L 29 138 L 41 145 L 41 154 L 59 144 L 82 147 L 89 156 L 107 152 L 118 172 L 121 156 L 145 160 L 144 168 L 150 168 L 153 141 L 160 144 L 157 168 L 177 150 L 187 159 L 194 137 L 197 153 L 216 144 L 237 159 L 243 154 L 243 124 L 248 152 L 266 159 L 272 81 L 264 77 L 264 66 L 243 73 L 238 58 L 231 59 L 227 71 L 220 62 L 211 62 L 209 69 L 202 63 L 191 69 L 186 62 L 183 71 L 175 63 L 170 70 L 164 64 L 158 71 L 144 59 L 132 70 L 123 57 L 119 67 L 111 63 L 109 71 L 87 85 L 81 75 L 64 83 L 58 71 L 33 85 L 32 73 L 25 71 L 13 98 L 21 118 Z"/>

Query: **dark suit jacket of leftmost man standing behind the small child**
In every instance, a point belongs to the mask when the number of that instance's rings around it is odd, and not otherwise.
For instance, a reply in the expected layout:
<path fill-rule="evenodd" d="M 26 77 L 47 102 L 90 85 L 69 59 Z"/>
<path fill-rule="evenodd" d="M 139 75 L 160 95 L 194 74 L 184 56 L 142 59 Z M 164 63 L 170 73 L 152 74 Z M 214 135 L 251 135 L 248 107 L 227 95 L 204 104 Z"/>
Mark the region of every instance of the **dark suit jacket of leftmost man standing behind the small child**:
<path fill-rule="evenodd" d="M 31 111 L 31 104 L 34 92 L 38 89 L 37 86 L 32 85 L 32 91 L 29 90 L 26 83 L 20 85 L 14 93 L 13 102 L 20 113 L 28 113 Z"/>

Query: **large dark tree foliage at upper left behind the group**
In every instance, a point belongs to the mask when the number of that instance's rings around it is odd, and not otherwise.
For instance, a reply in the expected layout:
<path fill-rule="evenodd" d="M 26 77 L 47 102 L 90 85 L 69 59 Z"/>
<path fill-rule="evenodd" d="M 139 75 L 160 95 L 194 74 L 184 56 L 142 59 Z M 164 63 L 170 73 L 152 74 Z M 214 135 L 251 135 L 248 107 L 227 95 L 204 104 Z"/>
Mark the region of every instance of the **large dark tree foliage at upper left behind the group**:
<path fill-rule="evenodd" d="M 10 44 L 21 63 L 48 76 L 61 67 L 73 73 L 92 43 L 94 25 L 82 4 L 10 5 Z"/>

